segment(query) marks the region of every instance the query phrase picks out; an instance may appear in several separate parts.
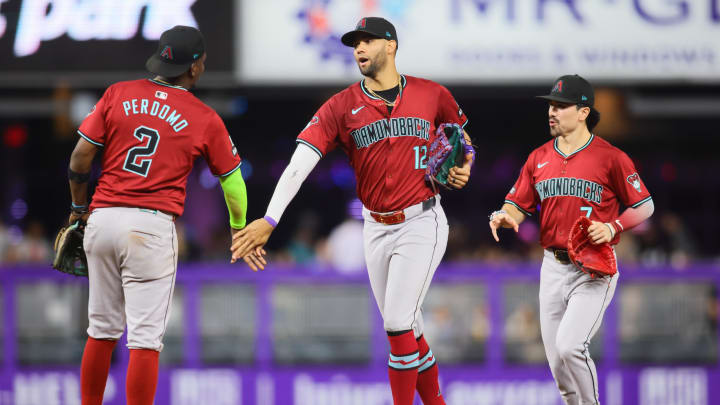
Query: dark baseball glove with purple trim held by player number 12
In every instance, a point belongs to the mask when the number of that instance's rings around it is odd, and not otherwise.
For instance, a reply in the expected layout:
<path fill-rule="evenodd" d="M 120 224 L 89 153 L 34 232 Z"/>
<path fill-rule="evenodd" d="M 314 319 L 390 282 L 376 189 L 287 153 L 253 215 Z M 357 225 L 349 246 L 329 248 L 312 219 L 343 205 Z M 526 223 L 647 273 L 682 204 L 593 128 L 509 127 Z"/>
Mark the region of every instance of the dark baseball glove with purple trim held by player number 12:
<path fill-rule="evenodd" d="M 468 145 L 463 129 L 458 124 L 442 124 L 438 127 L 437 136 L 428 151 L 428 163 L 425 168 L 425 180 L 450 189 L 448 174 L 453 166 L 462 167 L 466 153 L 474 153 L 472 145 Z M 473 155 L 474 156 L 474 155 Z"/>

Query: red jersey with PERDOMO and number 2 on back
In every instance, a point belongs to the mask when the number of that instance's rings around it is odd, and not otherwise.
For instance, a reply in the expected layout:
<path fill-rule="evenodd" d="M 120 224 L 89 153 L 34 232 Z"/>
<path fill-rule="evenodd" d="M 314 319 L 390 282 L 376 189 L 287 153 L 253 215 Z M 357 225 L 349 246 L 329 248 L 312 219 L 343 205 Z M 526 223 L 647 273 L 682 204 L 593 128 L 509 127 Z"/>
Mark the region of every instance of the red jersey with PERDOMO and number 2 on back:
<path fill-rule="evenodd" d="M 108 87 L 78 133 L 103 148 L 91 209 L 129 206 L 182 215 L 198 156 L 216 176 L 240 167 L 217 113 L 186 89 L 154 80 Z"/>

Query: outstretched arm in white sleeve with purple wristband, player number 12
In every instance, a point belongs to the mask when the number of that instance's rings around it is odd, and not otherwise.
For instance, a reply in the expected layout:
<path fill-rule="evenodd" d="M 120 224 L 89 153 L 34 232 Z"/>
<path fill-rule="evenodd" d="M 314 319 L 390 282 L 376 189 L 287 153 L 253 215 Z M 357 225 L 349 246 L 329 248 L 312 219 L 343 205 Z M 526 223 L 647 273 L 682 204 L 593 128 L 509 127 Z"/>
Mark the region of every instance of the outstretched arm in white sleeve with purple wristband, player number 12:
<path fill-rule="evenodd" d="M 233 235 L 231 262 L 234 263 L 241 257 L 246 258 L 253 252 L 256 256 L 260 256 L 262 247 L 265 246 L 270 234 L 280 222 L 285 209 L 319 161 L 320 155 L 314 150 L 302 143 L 298 144 L 295 153 L 290 158 L 290 163 L 275 186 L 275 192 L 270 199 L 265 217 L 256 219 Z M 253 270 L 264 268 L 263 265 L 258 265 L 257 262 L 252 262 L 247 258 L 245 261 Z"/>

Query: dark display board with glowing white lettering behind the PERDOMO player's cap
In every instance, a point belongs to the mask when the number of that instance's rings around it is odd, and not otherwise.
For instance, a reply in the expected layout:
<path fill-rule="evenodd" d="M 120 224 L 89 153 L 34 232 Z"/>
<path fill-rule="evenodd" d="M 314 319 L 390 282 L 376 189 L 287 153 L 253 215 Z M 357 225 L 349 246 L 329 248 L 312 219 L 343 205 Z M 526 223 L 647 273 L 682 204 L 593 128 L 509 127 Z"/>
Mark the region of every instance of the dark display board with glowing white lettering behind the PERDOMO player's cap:
<path fill-rule="evenodd" d="M 174 25 L 205 35 L 208 70 L 233 70 L 231 1 L 0 0 L 0 72 L 143 71 Z"/>

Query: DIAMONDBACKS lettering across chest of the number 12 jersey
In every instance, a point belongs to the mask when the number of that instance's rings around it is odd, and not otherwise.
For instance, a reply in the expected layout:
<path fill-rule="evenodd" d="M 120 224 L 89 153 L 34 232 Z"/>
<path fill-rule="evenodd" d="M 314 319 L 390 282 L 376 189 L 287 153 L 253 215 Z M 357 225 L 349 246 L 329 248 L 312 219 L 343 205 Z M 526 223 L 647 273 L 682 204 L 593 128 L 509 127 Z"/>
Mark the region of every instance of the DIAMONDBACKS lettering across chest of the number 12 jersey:
<path fill-rule="evenodd" d="M 350 135 L 355 140 L 358 149 L 367 148 L 375 142 L 397 136 L 417 136 L 429 140 L 430 122 L 416 117 L 382 119 L 358 128 L 350 132 Z"/>

